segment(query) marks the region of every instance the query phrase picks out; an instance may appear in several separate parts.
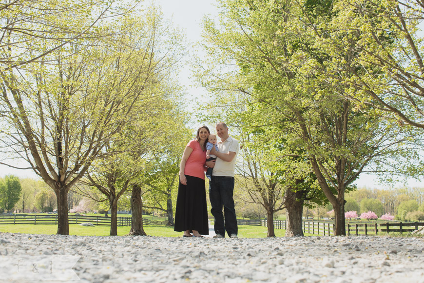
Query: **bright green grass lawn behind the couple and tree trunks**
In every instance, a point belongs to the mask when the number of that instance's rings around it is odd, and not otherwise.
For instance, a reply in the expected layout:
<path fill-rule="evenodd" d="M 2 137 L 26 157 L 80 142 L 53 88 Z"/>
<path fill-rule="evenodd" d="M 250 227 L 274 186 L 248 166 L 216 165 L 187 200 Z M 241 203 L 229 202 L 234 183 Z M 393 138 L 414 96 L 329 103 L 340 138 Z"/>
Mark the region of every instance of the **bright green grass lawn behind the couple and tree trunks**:
<path fill-rule="evenodd" d="M 27 233 L 27 234 L 56 234 L 57 225 L 32 225 L 32 224 L 5 224 L 0 225 L 0 232 Z M 130 227 L 118 227 L 118 236 L 124 236 L 130 231 Z M 78 236 L 108 236 L 109 226 L 85 227 L 78 224 L 69 224 L 70 235 Z M 157 225 L 144 226 L 144 231 L 151 236 L 180 237 L 182 232 L 174 232 L 173 227 Z M 275 229 L 277 237 L 284 237 L 286 230 Z M 305 234 L 307 236 L 308 234 Z M 265 238 L 267 227 L 239 225 L 238 236 L 240 238 Z"/>

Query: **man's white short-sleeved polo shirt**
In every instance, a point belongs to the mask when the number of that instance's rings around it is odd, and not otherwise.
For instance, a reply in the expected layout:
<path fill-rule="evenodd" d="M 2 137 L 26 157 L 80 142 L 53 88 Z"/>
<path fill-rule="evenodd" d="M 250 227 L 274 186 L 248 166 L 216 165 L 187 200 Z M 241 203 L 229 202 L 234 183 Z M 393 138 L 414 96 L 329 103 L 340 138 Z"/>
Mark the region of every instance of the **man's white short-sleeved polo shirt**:
<path fill-rule="evenodd" d="M 237 159 L 238 150 L 240 148 L 238 141 L 234 138 L 228 137 L 225 142 L 218 142 L 217 144 L 219 152 L 227 154 L 231 151 L 235 152 L 235 156 L 231 162 L 226 162 L 217 158 L 215 167 L 213 167 L 212 176 L 234 177 L 235 160 Z"/>

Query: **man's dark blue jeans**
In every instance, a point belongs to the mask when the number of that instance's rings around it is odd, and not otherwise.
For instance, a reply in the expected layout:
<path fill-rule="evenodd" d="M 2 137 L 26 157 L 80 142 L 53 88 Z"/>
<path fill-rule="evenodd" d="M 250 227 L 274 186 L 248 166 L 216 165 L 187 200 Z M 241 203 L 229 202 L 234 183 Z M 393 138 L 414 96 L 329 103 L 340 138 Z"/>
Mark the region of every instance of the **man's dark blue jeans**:
<path fill-rule="evenodd" d="M 212 176 L 209 182 L 209 199 L 212 205 L 212 215 L 215 218 L 215 233 L 225 236 L 231 234 L 237 235 L 237 218 L 235 216 L 234 200 L 232 193 L 234 191 L 234 177 Z M 222 207 L 224 206 L 224 214 Z M 225 223 L 224 223 L 225 216 Z"/>

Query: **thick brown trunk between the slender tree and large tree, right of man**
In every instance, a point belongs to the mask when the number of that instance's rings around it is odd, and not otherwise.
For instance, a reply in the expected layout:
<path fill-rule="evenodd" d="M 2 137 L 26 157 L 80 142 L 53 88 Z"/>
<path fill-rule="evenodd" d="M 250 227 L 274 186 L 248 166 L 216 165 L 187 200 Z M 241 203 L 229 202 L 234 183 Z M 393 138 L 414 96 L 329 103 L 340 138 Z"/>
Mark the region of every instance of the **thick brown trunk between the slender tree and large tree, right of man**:
<path fill-rule="evenodd" d="M 304 192 L 293 192 L 291 188 L 286 190 L 284 194 L 284 205 L 286 207 L 286 235 L 285 237 L 303 236 L 302 229 L 302 215 L 303 215 L 303 202 Z"/>

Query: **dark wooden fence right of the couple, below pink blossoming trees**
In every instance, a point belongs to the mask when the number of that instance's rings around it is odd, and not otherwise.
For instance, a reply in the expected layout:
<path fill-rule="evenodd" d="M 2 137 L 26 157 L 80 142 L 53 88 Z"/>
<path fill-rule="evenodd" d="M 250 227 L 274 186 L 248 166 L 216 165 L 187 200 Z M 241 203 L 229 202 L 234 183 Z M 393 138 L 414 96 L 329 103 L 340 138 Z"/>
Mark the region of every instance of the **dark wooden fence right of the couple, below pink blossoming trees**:
<path fill-rule="evenodd" d="M 239 225 L 253 225 L 267 227 L 266 219 L 237 219 Z M 334 222 L 331 221 L 303 221 L 303 232 L 311 235 L 334 235 Z M 382 233 L 404 233 L 424 227 L 424 222 L 347 222 L 346 235 L 379 235 Z M 285 220 L 274 220 L 275 229 L 286 229 Z"/>

